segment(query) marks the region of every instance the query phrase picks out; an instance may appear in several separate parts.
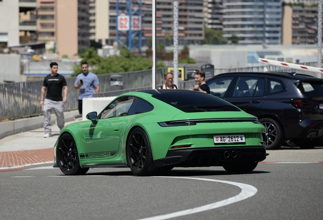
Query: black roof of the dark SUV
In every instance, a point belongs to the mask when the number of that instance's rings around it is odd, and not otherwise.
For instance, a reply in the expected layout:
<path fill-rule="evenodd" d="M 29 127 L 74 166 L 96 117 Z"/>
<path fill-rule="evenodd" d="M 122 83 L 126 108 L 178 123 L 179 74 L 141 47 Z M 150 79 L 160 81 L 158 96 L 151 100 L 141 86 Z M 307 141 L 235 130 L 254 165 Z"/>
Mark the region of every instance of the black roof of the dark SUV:
<path fill-rule="evenodd" d="M 300 73 L 295 73 L 295 72 L 230 72 L 230 73 L 221 73 L 218 74 L 214 77 L 217 76 L 223 76 L 223 75 L 262 75 L 262 76 L 276 76 L 276 77 L 284 77 L 284 78 L 290 78 L 290 79 L 296 79 L 296 80 L 309 80 L 309 79 L 315 79 L 315 80 L 323 80 L 321 78 L 316 78 L 311 75 L 306 75 L 306 74 L 300 74 Z M 208 79 L 207 81 L 213 79 L 214 77 Z"/>

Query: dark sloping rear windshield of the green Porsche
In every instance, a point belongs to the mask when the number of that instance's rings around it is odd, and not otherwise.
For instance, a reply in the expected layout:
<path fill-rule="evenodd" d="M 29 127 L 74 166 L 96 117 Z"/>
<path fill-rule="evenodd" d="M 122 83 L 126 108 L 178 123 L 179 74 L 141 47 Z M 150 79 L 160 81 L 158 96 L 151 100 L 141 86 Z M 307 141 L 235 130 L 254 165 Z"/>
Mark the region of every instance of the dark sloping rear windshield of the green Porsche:
<path fill-rule="evenodd" d="M 239 112 L 236 106 L 212 95 L 202 92 L 166 92 L 152 97 L 170 104 L 183 112 Z"/>

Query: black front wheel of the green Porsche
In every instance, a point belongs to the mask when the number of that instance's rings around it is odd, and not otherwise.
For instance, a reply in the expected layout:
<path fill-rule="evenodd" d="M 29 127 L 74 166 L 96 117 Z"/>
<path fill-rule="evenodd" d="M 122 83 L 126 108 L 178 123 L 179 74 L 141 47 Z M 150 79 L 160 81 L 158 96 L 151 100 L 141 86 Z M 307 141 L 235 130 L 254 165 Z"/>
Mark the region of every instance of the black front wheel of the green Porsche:
<path fill-rule="evenodd" d="M 69 133 L 59 138 L 56 156 L 59 169 L 66 175 L 83 175 L 89 170 L 80 167 L 77 147 L 73 136 Z"/>

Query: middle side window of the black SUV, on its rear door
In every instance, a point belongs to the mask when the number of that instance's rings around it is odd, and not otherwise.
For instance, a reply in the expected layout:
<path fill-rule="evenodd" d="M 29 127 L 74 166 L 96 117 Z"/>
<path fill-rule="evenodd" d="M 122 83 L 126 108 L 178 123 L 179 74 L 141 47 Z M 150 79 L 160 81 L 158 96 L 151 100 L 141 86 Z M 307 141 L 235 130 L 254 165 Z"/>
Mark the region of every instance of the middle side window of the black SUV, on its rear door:
<path fill-rule="evenodd" d="M 239 77 L 233 97 L 251 97 L 256 90 L 258 77 Z M 259 90 L 260 88 L 258 88 Z"/>

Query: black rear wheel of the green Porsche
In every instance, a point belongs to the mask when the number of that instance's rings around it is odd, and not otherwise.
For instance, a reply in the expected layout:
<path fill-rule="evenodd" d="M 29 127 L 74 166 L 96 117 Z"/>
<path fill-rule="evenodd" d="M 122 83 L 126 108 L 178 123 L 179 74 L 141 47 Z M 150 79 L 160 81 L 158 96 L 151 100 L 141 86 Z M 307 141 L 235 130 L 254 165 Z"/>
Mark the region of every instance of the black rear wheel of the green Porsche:
<path fill-rule="evenodd" d="M 143 129 L 135 128 L 128 136 L 126 159 L 131 171 L 137 176 L 150 176 L 157 171 L 150 142 Z"/>

